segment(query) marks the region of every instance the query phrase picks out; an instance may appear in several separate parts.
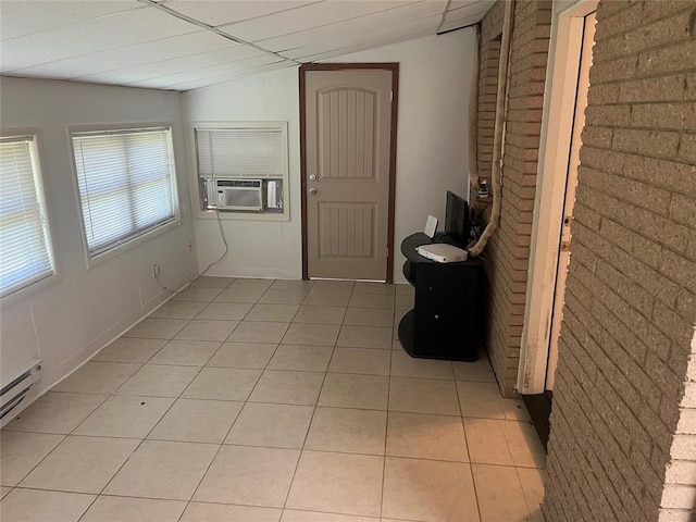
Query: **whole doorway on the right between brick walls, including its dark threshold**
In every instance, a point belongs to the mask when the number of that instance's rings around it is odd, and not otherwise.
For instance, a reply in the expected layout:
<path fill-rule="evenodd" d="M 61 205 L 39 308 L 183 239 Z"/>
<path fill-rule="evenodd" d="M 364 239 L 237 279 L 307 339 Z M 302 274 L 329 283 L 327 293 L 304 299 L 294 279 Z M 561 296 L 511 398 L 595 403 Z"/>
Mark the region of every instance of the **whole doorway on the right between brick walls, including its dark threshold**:
<path fill-rule="evenodd" d="M 572 215 L 596 8 L 596 0 L 581 1 L 560 13 L 551 28 L 551 60 L 542 123 L 539 182 L 518 372 L 518 390 L 524 396 L 545 445 L 558 362 L 566 275 L 572 251 Z"/>

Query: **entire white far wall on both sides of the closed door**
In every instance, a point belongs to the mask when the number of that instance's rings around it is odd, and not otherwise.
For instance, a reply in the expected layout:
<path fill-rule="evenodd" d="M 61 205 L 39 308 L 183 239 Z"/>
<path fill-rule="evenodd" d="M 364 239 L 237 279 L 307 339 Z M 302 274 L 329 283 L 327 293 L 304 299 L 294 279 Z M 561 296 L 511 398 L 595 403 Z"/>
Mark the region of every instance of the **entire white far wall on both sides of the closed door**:
<path fill-rule="evenodd" d="M 462 29 L 331 60 L 400 64 L 396 281 L 403 281 L 401 239 L 422 231 L 428 213 L 444 221 L 447 189 L 468 196 L 467 133 L 473 46 L 473 30 Z M 183 117 L 185 122 L 288 122 L 290 221 L 223 221 L 232 251 L 209 273 L 301 277 L 298 70 L 186 92 Z M 203 269 L 222 253 L 223 247 L 215 221 L 195 221 L 199 266 Z"/>

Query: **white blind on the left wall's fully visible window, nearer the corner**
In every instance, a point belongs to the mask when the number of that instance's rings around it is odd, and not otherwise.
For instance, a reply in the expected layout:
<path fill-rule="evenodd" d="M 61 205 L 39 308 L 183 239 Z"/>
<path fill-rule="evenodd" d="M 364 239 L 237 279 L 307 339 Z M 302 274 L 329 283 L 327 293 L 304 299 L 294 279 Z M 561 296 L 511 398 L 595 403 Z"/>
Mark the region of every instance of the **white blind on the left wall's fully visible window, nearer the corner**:
<path fill-rule="evenodd" d="M 169 128 L 73 134 L 90 257 L 177 219 L 171 144 Z"/>

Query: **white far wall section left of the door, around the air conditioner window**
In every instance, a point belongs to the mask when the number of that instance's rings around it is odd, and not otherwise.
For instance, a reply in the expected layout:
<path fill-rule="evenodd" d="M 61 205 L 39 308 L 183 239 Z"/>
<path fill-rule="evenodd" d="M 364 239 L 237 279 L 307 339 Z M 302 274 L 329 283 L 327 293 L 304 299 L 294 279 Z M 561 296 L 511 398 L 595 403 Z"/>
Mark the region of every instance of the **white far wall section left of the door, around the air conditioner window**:
<path fill-rule="evenodd" d="M 208 275 L 301 278 L 300 137 L 297 69 L 286 69 L 183 95 L 183 117 L 192 122 L 288 122 L 290 221 L 223 220 L 229 253 Z M 187 129 L 191 175 L 192 130 Z M 196 212 L 195 212 L 196 214 Z M 214 219 L 195 219 L 198 265 L 202 271 L 224 251 Z"/>

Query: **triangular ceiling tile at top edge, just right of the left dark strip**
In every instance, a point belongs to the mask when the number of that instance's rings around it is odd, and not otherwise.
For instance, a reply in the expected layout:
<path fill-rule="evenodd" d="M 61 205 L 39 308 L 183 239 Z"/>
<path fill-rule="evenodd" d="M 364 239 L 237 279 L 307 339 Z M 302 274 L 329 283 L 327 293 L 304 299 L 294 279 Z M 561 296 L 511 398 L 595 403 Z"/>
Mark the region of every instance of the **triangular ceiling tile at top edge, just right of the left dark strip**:
<path fill-rule="evenodd" d="M 164 5 L 181 14 L 216 27 L 219 25 L 232 24 L 301 8 L 311 3 L 316 3 L 316 0 L 303 2 L 286 0 L 241 0 L 234 2 L 220 0 L 173 0 L 167 1 Z"/>

